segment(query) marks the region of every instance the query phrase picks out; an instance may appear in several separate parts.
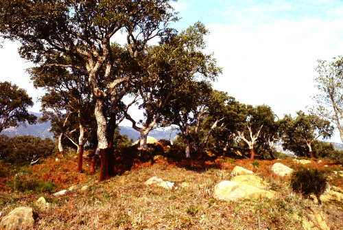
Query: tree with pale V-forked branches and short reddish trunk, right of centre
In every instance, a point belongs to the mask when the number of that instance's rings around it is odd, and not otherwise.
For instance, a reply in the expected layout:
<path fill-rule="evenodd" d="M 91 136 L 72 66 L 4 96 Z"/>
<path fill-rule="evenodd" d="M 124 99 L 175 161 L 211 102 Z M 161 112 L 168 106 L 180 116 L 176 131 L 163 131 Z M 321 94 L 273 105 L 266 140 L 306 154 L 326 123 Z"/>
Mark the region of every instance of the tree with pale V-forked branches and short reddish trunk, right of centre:
<path fill-rule="evenodd" d="M 250 160 L 254 159 L 254 146 L 257 139 L 263 136 L 263 129 L 268 130 L 274 122 L 275 115 L 270 106 L 251 106 L 246 105 L 244 108 L 244 125 L 237 130 L 237 135 L 240 139 L 246 142 L 250 148 Z M 268 128 L 267 128 L 268 127 Z M 267 139 L 268 137 L 265 136 Z M 269 137 L 272 141 L 272 137 Z"/>

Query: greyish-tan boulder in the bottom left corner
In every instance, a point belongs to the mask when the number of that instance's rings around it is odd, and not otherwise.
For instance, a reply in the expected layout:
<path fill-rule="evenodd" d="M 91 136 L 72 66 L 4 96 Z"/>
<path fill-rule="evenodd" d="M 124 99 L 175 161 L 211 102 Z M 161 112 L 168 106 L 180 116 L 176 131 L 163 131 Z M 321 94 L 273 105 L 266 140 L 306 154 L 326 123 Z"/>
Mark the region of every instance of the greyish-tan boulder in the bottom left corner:
<path fill-rule="evenodd" d="M 34 226 L 31 207 L 17 207 L 0 222 L 0 230 L 31 229 Z"/>

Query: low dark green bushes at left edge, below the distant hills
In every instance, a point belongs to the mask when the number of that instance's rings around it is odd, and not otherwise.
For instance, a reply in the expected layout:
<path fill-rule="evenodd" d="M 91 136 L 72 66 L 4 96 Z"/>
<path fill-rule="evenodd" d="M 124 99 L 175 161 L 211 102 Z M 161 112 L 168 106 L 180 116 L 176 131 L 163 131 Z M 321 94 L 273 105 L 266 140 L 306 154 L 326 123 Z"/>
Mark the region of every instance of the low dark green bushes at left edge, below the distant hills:
<path fill-rule="evenodd" d="M 1 159 L 11 165 L 28 165 L 32 161 L 58 153 L 55 141 L 28 135 L 10 137 L 5 143 L 1 139 L 0 146 Z"/>

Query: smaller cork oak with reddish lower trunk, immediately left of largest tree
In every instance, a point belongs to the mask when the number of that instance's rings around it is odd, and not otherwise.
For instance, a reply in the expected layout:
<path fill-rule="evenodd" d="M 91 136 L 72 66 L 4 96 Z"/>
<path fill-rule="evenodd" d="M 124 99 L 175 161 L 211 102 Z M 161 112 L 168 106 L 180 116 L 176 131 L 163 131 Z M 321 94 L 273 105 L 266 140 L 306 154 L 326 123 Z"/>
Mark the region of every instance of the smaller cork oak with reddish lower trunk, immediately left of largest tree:
<path fill-rule="evenodd" d="M 62 58 L 62 57 L 60 57 Z M 58 147 L 62 154 L 62 137 L 67 137 L 78 148 L 78 172 L 82 172 L 85 132 L 94 124 L 94 103 L 91 88 L 86 84 L 82 72 L 67 71 L 61 67 L 40 66 L 30 69 L 34 87 L 43 88 L 47 93 L 40 98 L 42 102 L 42 122 L 51 120 L 51 130 L 58 136 Z M 78 143 L 72 135 L 78 130 Z M 63 156 L 63 154 L 62 154 Z"/>

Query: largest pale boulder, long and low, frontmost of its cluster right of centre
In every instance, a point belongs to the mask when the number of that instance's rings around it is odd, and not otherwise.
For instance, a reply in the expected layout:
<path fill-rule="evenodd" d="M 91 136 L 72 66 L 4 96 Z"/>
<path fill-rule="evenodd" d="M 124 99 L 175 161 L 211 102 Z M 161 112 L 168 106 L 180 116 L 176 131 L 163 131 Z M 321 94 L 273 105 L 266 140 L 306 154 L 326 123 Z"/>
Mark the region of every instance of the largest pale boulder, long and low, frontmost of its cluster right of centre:
<path fill-rule="evenodd" d="M 274 194 L 265 189 L 233 181 L 222 181 L 215 185 L 213 198 L 217 200 L 239 200 L 273 198 Z"/>

